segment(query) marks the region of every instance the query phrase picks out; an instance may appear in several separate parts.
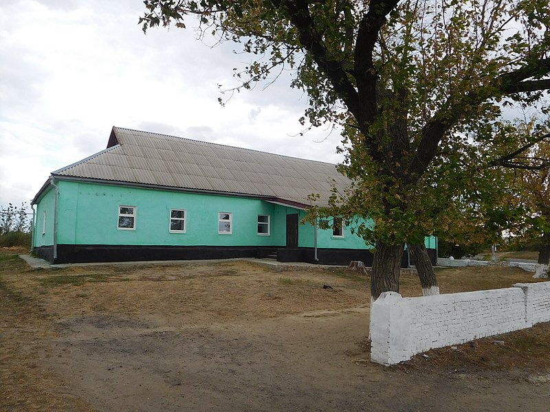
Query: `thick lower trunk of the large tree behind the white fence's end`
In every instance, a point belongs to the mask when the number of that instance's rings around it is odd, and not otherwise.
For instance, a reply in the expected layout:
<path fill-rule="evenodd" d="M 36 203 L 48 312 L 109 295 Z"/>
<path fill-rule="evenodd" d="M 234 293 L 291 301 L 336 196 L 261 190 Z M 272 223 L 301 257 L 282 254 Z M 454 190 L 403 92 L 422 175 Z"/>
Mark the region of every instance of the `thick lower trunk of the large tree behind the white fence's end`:
<path fill-rule="evenodd" d="M 403 244 L 376 242 L 371 279 L 371 303 L 383 292 L 399 293 L 399 270 L 403 257 Z"/>

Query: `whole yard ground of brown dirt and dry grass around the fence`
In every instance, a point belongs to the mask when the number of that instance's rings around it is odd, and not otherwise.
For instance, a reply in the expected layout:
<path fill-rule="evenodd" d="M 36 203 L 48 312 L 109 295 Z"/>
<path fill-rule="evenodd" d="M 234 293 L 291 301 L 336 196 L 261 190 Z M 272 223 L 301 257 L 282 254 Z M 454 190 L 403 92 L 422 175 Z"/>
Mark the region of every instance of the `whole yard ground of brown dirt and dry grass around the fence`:
<path fill-rule="evenodd" d="M 548 411 L 548 323 L 382 367 L 369 279 L 345 269 L 33 271 L 14 253 L 0 253 L 1 411 Z M 443 293 L 534 281 L 487 267 L 438 278 Z M 403 295 L 419 290 L 402 276 Z"/>

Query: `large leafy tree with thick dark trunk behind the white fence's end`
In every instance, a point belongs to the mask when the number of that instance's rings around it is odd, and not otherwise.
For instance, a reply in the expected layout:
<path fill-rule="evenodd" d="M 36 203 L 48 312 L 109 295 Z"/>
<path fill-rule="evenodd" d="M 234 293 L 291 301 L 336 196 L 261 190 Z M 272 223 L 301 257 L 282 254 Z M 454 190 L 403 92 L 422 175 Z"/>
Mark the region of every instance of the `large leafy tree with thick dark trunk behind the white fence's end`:
<path fill-rule="evenodd" d="M 354 184 L 333 210 L 374 221 L 359 229 L 375 244 L 373 298 L 399 291 L 404 243 L 441 229 L 464 171 L 485 176 L 498 163 L 472 154 L 503 139 L 494 135 L 502 104 L 550 89 L 547 0 L 144 3 L 144 31 L 199 16 L 203 30 L 254 56 L 237 73 L 241 87 L 294 69 L 293 86 L 309 96 L 303 120 L 342 126 L 341 170 Z"/>

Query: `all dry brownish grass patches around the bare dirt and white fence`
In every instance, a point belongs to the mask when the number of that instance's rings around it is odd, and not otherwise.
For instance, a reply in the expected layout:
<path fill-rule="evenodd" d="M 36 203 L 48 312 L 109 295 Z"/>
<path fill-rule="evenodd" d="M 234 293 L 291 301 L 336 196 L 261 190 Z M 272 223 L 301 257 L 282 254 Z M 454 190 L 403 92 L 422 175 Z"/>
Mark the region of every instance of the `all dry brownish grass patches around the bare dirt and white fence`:
<path fill-rule="evenodd" d="M 91 411 L 64 391 L 63 380 L 40 367 L 56 321 L 79 316 L 125 314 L 162 317 L 177 325 L 267 319 L 312 310 L 364 306 L 369 277 L 342 268 L 282 272 L 250 264 L 72 266 L 32 271 L 16 251 L 0 251 L 0 409 Z M 438 269 L 442 293 L 509 287 L 534 282 L 531 273 L 498 266 Z M 333 289 L 322 288 L 329 285 Z M 417 296 L 417 276 L 401 276 L 401 293 Z M 412 369 L 538 368 L 550 366 L 550 326 L 478 341 L 476 347 L 434 350 L 413 359 Z M 492 341 L 503 340 L 505 345 Z M 5 384 L 8 382 L 8 384 Z M 28 394 L 32 393 L 32 399 Z"/>

